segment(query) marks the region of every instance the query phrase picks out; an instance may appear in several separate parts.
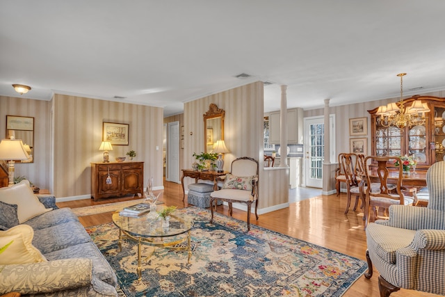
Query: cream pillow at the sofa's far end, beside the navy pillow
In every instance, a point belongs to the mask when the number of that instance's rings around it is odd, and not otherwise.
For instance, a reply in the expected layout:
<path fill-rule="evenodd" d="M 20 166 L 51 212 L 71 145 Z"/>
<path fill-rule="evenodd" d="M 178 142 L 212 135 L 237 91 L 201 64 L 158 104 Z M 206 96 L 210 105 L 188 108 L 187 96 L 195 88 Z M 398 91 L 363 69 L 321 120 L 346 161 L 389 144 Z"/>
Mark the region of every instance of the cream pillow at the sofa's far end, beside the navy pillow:
<path fill-rule="evenodd" d="M 44 208 L 44 205 L 35 197 L 26 179 L 13 186 L 0 188 L 0 201 L 17 204 L 17 218 L 19 218 L 20 224 L 52 210 L 51 208 Z"/>

